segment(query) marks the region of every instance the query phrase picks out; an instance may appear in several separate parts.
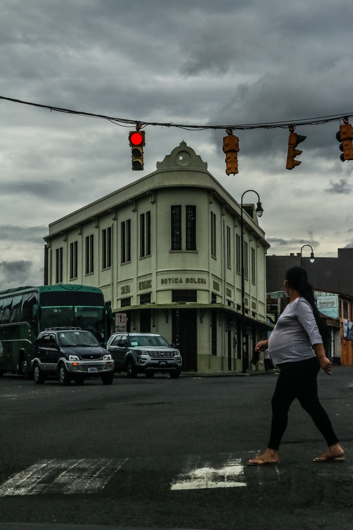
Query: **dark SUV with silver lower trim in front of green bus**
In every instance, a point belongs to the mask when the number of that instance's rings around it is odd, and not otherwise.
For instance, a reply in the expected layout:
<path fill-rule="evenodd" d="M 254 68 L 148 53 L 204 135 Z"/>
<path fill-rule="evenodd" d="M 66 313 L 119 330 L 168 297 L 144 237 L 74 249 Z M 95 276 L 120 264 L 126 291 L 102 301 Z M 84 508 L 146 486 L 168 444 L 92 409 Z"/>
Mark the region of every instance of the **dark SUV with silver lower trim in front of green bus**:
<path fill-rule="evenodd" d="M 113 383 L 114 361 L 90 331 L 80 328 L 48 328 L 38 335 L 33 350 L 34 382 L 44 383 L 57 375 L 61 385 L 84 383 L 87 377 L 101 377 L 104 385 Z"/>

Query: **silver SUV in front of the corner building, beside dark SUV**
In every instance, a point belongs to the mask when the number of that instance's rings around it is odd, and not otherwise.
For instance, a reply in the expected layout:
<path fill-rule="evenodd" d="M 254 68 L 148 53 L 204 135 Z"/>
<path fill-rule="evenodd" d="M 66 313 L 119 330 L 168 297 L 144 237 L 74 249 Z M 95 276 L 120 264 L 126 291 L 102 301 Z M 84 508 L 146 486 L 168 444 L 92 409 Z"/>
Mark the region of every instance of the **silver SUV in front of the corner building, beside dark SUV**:
<path fill-rule="evenodd" d="M 114 333 L 107 342 L 115 370 L 128 377 L 143 373 L 153 377 L 156 372 L 169 372 L 177 378 L 182 367 L 180 351 L 158 333 Z"/>

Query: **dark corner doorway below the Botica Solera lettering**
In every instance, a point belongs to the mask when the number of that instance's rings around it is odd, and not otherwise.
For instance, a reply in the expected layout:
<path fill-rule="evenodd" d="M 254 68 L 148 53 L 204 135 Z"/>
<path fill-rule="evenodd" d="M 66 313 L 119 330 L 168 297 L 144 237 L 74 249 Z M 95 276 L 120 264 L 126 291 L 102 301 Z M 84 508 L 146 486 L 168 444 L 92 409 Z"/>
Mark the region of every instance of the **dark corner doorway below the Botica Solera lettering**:
<path fill-rule="evenodd" d="M 171 341 L 182 355 L 182 370 L 197 370 L 197 310 L 171 311 Z"/>

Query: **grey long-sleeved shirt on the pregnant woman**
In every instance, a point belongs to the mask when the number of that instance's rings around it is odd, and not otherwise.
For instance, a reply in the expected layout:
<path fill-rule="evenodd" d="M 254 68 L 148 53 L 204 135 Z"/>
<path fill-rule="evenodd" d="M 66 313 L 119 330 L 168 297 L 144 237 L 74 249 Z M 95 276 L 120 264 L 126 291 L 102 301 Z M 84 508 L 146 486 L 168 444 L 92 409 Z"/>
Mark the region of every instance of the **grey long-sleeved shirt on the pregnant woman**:
<path fill-rule="evenodd" d="M 274 364 L 291 363 L 315 357 L 311 345 L 322 344 L 313 310 L 305 298 L 296 298 L 280 315 L 268 340 Z"/>

